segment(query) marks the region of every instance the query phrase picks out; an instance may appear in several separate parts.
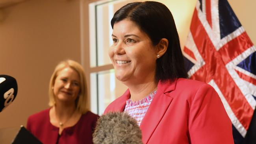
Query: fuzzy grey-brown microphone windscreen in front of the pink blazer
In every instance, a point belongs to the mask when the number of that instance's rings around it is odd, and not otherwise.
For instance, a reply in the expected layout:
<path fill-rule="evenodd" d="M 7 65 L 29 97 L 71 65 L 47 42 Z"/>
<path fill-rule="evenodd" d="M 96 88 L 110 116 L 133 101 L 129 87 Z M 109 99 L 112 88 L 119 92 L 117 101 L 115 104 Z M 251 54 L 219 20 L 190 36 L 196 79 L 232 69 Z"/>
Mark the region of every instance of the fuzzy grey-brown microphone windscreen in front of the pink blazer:
<path fill-rule="evenodd" d="M 93 133 L 94 144 L 143 144 L 137 121 L 127 113 L 100 116 Z"/>

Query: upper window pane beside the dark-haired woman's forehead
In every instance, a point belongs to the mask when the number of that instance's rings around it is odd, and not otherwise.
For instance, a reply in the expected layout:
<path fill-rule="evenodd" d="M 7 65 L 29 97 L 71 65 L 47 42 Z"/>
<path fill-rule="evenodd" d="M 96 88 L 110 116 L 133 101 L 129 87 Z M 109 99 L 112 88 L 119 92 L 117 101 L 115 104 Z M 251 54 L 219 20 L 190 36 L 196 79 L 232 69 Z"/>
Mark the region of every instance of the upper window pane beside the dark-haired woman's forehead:
<path fill-rule="evenodd" d="M 98 1 L 89 4 L 90 66 L 111 64 L 108 49 L 113 44 L 111 18 L 115 11 L 136 0 Z"/>

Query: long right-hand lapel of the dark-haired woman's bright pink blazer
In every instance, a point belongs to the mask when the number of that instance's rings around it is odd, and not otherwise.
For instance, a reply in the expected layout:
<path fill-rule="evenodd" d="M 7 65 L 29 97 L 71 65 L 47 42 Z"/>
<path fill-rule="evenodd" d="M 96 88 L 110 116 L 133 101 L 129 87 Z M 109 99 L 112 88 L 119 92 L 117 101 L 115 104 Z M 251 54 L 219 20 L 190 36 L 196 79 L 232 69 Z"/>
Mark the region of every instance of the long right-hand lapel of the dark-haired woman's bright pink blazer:
<path fill-rule="evenodd" d="M 157 93 L 148 107 L 147 113 L 140 125 L 143 143 L 147 144 L 171 104 L 173 98 L 165 93 L 174 90 L 175 86 L 176 80 L 174 80 L 172 84 L 170 84 L 170 81 L 167 81 L 166 83 L 158 83 Z"/>

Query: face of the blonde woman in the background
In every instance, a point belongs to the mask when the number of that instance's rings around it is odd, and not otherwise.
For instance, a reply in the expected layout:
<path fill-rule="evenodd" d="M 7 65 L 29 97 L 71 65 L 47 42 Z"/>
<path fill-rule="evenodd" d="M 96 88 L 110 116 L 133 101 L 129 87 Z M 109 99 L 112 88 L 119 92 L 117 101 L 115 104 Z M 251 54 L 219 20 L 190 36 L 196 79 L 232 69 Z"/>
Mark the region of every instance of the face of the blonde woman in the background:
<path fill-rule="evenodd" d="M 80 92 L 78 72 L 70 67 L 60 70 L 54 82 L 53 92 L 57 102 L 74 102 Z"/>

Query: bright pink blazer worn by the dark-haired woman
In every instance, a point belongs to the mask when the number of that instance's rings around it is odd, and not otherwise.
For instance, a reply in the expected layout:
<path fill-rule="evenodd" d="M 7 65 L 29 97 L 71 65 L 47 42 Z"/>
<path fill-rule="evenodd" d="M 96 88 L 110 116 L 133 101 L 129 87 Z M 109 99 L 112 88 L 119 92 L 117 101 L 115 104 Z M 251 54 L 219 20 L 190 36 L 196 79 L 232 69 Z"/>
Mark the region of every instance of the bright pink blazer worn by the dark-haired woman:
<path fill-rule="evenodd" d="M 129 89 L 104 113 L 124 111 Z M 208 84 L 179 78 L 158 83 L 141 125 L 144 144 L 234 144 L 232 123 Z"/>

